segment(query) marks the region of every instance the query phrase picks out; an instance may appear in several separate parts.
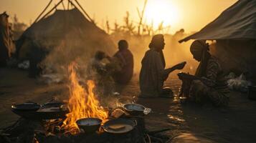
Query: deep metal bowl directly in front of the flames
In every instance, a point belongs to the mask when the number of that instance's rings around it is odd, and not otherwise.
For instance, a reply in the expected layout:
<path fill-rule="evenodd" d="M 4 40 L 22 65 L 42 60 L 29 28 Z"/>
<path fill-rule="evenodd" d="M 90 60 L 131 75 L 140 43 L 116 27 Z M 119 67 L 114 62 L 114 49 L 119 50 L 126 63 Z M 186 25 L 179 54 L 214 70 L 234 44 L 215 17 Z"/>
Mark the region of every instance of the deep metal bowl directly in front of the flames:
<path fill-rule="evenodd" d="M 83 129 L 86 133 L 93 133 L 98 131 L 103 120 L 98 118 L 82 118 L 77 120 L 77 126 Z"/>

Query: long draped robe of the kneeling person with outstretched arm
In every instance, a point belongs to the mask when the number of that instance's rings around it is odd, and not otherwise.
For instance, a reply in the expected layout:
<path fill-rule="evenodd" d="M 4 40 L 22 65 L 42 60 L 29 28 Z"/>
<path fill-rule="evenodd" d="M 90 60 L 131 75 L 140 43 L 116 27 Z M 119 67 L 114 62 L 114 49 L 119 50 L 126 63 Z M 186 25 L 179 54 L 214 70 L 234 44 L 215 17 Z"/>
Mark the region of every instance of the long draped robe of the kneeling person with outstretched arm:
<path fill-rule="evenodd" d="M 158 97 L 163 89 L 163 82 L 169 72 L 164 69 L 161 55 L 154 49 L 146 51 L 141 61 L 140 89 L 141 97 Z"/>

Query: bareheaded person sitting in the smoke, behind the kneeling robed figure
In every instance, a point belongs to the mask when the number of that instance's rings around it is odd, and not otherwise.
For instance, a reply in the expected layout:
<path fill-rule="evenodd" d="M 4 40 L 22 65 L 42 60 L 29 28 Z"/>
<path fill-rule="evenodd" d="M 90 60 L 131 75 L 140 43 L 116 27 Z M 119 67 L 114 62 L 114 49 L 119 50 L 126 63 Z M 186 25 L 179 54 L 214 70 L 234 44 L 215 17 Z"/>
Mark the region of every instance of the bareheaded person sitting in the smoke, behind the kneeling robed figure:
<path fill-rule="evenodd" d="M 114 57 L 119 61 L 120 70 L 115 71 L 113 78 L 118 84 L 127 84 L 133 77 L 133 54 L 128 49 L 128 42 L 125 40 L 118 42 L 118 49 Z"/>

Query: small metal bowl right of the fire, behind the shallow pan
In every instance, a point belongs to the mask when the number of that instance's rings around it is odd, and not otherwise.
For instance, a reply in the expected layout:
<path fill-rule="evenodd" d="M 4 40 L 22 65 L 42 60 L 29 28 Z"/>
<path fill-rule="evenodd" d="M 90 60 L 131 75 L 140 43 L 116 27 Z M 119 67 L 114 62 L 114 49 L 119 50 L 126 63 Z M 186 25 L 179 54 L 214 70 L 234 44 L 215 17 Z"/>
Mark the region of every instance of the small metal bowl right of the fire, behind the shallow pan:
<path fill-rule="evenodd" d="M 141 104 L 125 104 L 123 105 L 123 108 L 126 112 L 128 112 L 131 115 L 143 115 L 146 107 L 143 107 Z"/>

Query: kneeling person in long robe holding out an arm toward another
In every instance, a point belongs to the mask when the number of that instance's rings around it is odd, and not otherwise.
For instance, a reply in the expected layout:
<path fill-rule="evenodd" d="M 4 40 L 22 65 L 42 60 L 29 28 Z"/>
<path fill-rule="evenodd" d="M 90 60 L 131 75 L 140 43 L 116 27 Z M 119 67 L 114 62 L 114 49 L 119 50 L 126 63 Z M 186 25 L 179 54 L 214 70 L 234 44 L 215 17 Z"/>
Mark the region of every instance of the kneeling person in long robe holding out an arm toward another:
<path fill-rule="evenodd" d="M 166 62 L 163 56 L 164 39 L 162 34 L 153 36 L 149 50 L 141 61 L 140 89 L 141 97 L 169 97 L 171 89 L 163 88 L 169 74 L 176 69 L 183 69 L 186 62 L 164 69 Z"/>

